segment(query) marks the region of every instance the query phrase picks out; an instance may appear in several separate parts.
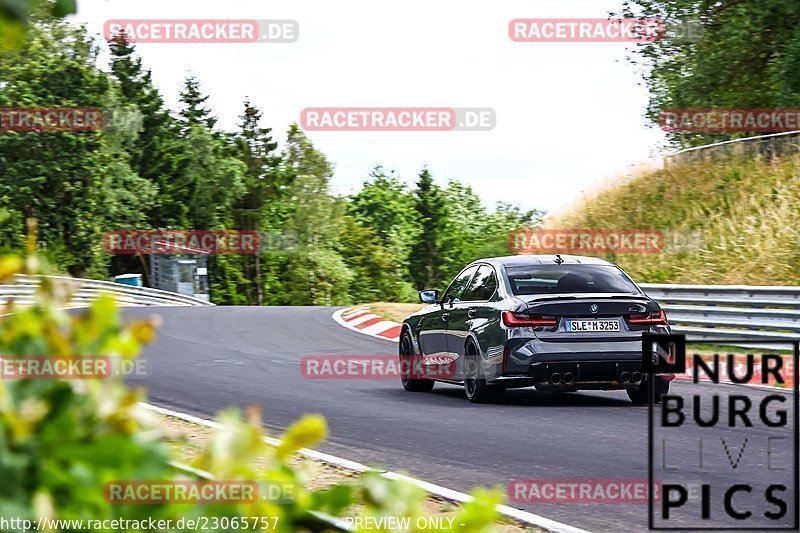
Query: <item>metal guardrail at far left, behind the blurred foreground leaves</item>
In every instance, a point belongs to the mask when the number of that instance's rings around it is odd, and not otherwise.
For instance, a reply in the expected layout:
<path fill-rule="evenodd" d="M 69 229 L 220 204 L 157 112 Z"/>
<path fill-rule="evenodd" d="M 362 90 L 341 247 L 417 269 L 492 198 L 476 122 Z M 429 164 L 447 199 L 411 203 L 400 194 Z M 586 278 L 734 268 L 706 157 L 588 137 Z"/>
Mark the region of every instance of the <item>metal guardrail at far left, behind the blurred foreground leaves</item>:
<path fill-rule="evenodd" d="M 12 300 L 15 304 L 23 306 L 33 304 L 41 278 L 42 276 L 17 276 L 16 283 L 0 285 L 0 304 L 7 304 Z M 148 287 L 67 276 L 47 276 L 47 278 L 71 293 L 69 303 L 71 307 L 86 307 L 101 293 L 111 294 L 121 306 L 213 305 L 192 296 Z"/>

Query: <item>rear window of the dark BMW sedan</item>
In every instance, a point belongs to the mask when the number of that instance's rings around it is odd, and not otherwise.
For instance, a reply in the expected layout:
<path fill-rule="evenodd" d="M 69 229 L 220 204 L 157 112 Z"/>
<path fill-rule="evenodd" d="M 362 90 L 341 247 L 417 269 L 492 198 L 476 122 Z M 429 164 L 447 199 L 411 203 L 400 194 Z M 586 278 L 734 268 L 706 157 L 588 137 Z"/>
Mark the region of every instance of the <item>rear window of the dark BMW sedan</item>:
<path fill-rule="evenodd" d="M 506 269 L 516 295 L 610 292 L 641 294 L 630 279 L 611 265 L 531 265 Z"/>

